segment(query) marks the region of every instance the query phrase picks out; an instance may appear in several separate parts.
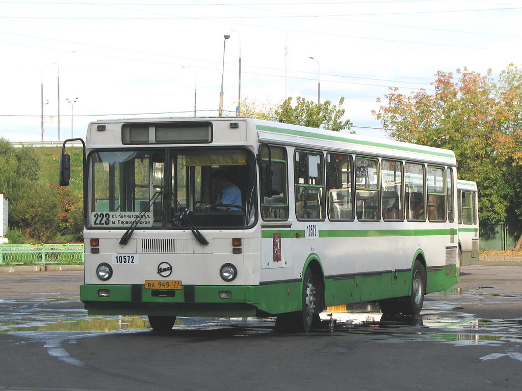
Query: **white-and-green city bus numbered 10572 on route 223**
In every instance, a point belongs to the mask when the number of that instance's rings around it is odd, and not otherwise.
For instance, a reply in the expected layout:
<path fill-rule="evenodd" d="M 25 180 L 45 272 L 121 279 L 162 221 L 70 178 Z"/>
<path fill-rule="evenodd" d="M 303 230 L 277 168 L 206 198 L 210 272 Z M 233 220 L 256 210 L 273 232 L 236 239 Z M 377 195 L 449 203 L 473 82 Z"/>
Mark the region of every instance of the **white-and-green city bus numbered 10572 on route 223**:
<path fill-rule="evenodd" d="M 178 316 L 276 317 L 276 331 L 308 332 L 336 304 L 416 315 L 459 278 L 449 150 L 201 117 L 91 123 L 85 156 L 89 314 L 147 315 L 155 331 Z M 230 189 L 239 198 L 220 202 Z"/>

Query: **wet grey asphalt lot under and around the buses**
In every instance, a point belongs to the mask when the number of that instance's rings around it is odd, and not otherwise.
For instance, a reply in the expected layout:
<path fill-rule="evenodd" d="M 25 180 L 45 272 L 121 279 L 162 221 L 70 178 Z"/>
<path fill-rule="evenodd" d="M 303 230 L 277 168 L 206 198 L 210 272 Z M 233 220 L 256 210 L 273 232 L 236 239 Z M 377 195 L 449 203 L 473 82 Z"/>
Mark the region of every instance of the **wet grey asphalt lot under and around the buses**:
<path fill-rule="evenodd" d="M 87 316 L 81 272 L 3 274 L 0 390 L 520 389 L 522 264 L 462 274 L 418 319 L 365 304 L 290 335 L 271 319 L 189 317 L 157 334 L 146 317 Z"/>

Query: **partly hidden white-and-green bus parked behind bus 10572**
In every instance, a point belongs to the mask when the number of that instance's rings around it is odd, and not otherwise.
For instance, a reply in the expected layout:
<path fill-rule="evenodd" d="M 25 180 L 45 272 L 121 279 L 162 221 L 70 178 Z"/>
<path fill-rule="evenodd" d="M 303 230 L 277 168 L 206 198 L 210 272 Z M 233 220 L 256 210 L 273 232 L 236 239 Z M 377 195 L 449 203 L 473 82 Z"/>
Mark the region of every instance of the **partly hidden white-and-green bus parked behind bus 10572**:
<path fill-rule="evenodd" d="M 458 241 L 461 265 L 479 260 L 479 206 L 477 184 L 457 179 Z"/>

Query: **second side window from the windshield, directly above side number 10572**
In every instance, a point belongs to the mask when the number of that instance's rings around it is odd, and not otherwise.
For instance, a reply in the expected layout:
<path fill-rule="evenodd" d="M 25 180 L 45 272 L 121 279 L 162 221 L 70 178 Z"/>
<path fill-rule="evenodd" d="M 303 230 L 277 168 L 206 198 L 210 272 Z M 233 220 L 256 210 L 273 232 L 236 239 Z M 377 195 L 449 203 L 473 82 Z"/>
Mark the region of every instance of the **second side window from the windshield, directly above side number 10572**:
<path fill-rule="evenodd" d="M 295 151 L 295 217 L 300 220 L 324 219 L 323 154 Z"/>

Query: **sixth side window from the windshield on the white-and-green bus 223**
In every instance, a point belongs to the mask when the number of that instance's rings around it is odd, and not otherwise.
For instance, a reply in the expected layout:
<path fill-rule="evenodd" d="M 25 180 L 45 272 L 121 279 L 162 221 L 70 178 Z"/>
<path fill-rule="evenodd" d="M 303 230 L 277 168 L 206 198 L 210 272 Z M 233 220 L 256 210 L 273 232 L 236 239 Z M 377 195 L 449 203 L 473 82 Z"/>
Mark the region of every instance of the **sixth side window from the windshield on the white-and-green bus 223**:
<path fill-rule="evenodd" d="M 406 163 L 406 217 L 408 221 L 426 221 L 424 177 L 422 163 Z"/>

